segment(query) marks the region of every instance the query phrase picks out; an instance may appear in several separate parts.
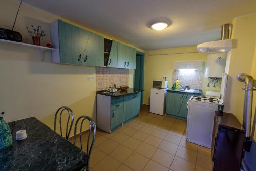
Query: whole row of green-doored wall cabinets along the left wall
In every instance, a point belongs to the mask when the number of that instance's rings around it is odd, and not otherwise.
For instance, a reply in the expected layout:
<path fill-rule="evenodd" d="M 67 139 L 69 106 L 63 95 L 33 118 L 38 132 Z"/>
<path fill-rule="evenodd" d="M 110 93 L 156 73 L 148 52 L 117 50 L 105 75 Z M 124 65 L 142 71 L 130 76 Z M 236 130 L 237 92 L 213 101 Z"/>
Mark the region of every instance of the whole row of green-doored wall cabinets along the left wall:
<path fill-rule="evenodd" d="M 56 20 L 50 24 L 53 63 L 104 67 L 104 37 Z M 112 42 L 107 67 L 136 68 L 136 49 Z"/>

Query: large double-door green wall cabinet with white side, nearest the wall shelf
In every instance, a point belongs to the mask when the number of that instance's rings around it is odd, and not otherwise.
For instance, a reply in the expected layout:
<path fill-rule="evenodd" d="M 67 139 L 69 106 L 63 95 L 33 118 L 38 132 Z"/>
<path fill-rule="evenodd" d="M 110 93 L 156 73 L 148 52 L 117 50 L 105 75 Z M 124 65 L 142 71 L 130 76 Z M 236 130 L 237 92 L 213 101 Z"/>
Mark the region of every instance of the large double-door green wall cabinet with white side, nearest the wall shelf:
<path fill-rule="evenodd" d="M 61 20 L 51 23 L 50 31 L 51 42 L 57 49 L 52 51 L 52 62 L 104 66 L 104 39 L 102 36 Z"/>

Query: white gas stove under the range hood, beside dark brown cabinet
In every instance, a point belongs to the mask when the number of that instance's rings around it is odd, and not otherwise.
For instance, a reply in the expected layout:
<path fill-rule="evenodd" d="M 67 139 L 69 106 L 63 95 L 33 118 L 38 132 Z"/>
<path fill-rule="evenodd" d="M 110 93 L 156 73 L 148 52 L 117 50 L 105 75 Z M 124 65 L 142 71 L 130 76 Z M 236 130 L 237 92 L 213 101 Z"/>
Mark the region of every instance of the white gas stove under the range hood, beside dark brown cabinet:
<path fill-rule="evenodd" d="M 187 103 L 187 141 L 211 148 L 214 115 L 222 100 L 192 96 Z"/>

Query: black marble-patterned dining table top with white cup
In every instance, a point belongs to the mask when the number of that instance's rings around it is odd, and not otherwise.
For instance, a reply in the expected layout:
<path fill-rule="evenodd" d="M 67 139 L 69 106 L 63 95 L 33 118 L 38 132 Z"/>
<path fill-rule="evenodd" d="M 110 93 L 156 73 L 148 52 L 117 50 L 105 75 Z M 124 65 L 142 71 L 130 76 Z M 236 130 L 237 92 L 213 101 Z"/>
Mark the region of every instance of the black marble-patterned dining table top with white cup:
<path fill-rule="evenodd" d="M 16 131 L 22 129 L 27 138 L 16 141 Z M 1 171 L 80 170 L 87 164 L 86 153 L 35 117 L 16 121 L 12 139 L 12 146 L 0 151 Z"/>

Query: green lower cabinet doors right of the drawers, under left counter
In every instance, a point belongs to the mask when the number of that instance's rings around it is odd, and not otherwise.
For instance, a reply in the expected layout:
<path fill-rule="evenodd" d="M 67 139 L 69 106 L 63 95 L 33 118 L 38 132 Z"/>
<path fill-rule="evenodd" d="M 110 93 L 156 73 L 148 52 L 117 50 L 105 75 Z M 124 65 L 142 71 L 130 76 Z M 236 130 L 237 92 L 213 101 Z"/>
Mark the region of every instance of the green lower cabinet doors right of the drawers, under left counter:
<path fill-rule="evenodd" d="M 140 92 L 124 96 L 123 122 L 127 122 L 140 113 Z"/>

